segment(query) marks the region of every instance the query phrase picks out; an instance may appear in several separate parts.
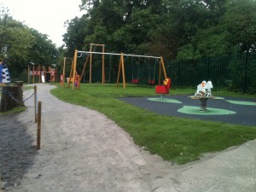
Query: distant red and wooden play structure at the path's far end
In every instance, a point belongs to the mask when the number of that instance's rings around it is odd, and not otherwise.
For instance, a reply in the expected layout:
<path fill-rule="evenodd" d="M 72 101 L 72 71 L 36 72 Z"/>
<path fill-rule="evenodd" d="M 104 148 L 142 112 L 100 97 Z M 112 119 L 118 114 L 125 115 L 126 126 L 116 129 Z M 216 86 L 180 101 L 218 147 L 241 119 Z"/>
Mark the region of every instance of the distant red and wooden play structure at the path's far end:
<path fill-rule="evenodd" d="M 55 82 L 57 76 L 57 68 L 56 67 L 42 67 L 41 65 L 35 66 L 33 62 L 29 63 L 30 65 L 27 66 L 27 83 L 32 84 L 35 83 L 35 78 L 38 77 L 38 83 L 45 83 L 45 82 Z M 30 78 L 32 77 L 32 79 Z"/>

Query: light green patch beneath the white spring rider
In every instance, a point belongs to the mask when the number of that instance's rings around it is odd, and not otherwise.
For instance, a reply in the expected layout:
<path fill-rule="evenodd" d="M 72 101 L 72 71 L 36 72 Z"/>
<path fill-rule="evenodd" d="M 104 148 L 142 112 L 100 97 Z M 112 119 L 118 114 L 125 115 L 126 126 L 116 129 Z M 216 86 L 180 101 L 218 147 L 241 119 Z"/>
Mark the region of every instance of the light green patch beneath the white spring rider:
<path fill-rule="evenodd" d="M 222 108 L 207 108 L 207 111 L 200 111 L 200 107 L 195 106 L 183 106 L 177 110 L 179 113 L 186 114 L 198 114 L 198 115 L 223 115 L 223 114 L 236 114 L 234 111 L 222 109 Z"/>

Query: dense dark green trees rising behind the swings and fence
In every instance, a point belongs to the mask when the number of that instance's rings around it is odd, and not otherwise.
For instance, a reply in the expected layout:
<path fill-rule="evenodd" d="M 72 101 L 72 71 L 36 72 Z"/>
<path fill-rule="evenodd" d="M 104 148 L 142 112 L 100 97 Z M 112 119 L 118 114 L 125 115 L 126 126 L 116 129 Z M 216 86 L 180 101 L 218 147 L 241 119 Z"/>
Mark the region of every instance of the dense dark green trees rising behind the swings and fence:
<path fill-rule="evenodd" d="M 64 35 L 70 55 L 90 43 L 166 59 L 255 50 L 254 0 L 81 0 L 80 9 Z"/>

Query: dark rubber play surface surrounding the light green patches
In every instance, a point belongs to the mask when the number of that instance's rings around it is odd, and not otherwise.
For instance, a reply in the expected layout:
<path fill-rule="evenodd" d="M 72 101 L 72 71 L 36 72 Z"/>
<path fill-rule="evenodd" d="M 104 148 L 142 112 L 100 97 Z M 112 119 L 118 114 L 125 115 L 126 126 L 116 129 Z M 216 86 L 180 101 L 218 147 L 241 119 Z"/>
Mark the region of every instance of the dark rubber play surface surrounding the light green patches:
<path fill-rule="evenodd" d="M 148 99 L 160 98 L 160 96 L 150 96 L 150 97 L 125 97 L 120 100 L 128 102 L 131 105 L 148 109 L 152 112 L 168 115 L 168 116 L 177 116 L 189 119 L 202 119 L 210 121 L 219 121 L 230 124 L 237 125 L 249 125 L 256 126 L 256 99 L 247 99 L 247 98 L 237 98 L 225 96 L 224 99 L 208 99 L 207 108 L 209 111 L 211 108 L 215 109 L 225 109 L 234 114 L 214 114 L 210 115 L 207 112 L 202 112 L 201 114 L 192 114 L 192 113 L 180 113 L 177 110 L 183 108 L 184 106 L 195 106 L 200 110 L 201 102 L 197 99 L 189 98 L 190 95 L 185 96 L 164 96 L 165 99 L 177 100 L 180 103 L 173 102 L 155 102 Z M 239 102 L 253 102 L 255 105 L 242 105 L 234 104 L 228 101 L 239 101 Z"/>

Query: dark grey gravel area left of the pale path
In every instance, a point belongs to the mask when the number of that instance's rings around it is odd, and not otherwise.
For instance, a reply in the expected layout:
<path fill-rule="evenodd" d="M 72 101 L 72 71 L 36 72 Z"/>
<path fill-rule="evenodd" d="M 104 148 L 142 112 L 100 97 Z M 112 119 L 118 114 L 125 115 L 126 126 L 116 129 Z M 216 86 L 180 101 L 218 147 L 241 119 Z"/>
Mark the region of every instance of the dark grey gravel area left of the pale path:
<path fill-rule="evenodd" d="M 1 187 L 3 191 L 11 191 L 9 187 L 19 185 L 38 154 L 36 147 L 32 146 L 32 137 L 17 121 L 16 115 L 0 116 L 0 191 Z"/>

